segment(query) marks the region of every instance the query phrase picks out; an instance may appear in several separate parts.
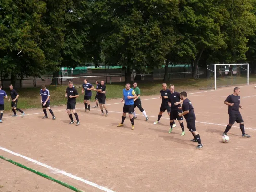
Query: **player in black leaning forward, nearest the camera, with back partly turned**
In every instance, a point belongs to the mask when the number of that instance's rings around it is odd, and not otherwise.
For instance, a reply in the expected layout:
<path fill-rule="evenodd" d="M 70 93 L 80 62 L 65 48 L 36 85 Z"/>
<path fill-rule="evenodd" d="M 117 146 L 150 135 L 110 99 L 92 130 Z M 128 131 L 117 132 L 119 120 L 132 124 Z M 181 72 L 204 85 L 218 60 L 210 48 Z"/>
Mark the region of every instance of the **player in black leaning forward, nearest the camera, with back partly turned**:
<path fill-rule="evenodd" d="M 184 116 L 187 122 L 187 128 L 192 133 L 194 139 L 191 139 L 190 141 L 198 142 L 198 145 L 196 149 L 201 149 L 203 147 L 201 143 L 201 138 L 199 133 L 196 131 L 195 127 L 195 113 L 194 108 L 187 98 L 187 93 L 185 91 L 180 93 L 180 99 L 183 100 L 182 107 L 178 107 L 179 109 L 182 109 L 183 113 L 178 113 L 179 117 Z"/>

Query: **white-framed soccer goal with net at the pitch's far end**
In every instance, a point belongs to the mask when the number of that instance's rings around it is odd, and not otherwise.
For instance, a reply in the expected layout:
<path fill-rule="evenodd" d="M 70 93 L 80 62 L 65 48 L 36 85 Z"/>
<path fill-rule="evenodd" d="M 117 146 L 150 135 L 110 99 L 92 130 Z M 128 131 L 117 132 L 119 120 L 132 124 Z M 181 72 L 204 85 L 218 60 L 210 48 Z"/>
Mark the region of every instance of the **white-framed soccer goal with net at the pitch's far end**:
<path fill-rule="evenodd" d="M 214 64 L 207 65 L 208 88 L 249 85 L 249 64 Z"/>

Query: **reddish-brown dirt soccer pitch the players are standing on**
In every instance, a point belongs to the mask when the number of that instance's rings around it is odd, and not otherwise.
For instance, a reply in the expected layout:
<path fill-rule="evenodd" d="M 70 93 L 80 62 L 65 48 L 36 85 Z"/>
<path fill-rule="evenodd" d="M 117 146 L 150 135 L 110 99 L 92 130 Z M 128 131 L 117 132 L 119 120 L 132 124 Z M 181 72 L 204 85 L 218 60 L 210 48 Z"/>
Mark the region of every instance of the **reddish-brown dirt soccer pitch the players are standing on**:
<path fill-rule="evenodd" d="M 153 125 L 161 103 L 157 95 L 141 97 L 149 121 L 137 109 L 134 130 L 128 118 L 124 127 L 116 127 L 122 116 L 120 99 L 107 101 L 108 117 L 100 117 L 99 108 L 85 113 L 84 105 L 78 104 L 80 126 L 68 124 L 65 106 L 52 108 L 54 121 L 50 114 L 42 120 L 41 109 L 25 111 L 24 118 L 4 114 L 0 155 L 85 192 L 256 192 L 256 89 L 243 86 L 240 95 L 245 131 L 252 138 L 242 138 L 235 124 L 229 132 L 230 142 L 224 144 L 221 136 L 228 123 L 228 107 L 223 102 L 232 89 L 189 92 L 202 150 L 195 149 L 187 129 L 180 136 L 178 121 L 168 134 L 167 113 L 160 124 Z M 176 91 L 183 90 L 176 87 Z M 0 192 L 69 191 L 0 159 Z"/>

